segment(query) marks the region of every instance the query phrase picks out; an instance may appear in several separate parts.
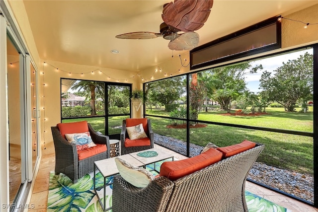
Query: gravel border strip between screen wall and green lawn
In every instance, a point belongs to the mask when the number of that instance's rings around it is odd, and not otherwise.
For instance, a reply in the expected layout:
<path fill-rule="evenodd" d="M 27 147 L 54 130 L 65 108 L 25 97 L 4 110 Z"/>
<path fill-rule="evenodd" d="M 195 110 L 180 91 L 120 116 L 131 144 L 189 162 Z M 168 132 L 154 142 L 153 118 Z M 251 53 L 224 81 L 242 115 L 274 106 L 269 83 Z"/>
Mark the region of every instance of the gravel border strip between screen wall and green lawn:
<path fill-rule="evenodd" d="M 186 155 L 186 142 L 171 137 L 154 135 L 155 143 Z M 190 156 L 200 154 L 202 146 L 190 143 Z M 255 162 L 248 177 L 256 182 L 314 203 L 314 178 L 309 175 Z"/>

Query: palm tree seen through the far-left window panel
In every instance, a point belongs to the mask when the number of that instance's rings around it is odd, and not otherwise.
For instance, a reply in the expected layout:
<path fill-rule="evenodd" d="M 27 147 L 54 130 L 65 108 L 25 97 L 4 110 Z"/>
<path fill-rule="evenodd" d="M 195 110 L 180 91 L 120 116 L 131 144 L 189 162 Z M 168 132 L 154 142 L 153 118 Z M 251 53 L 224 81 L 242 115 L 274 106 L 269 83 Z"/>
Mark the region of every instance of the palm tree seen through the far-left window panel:
<path fill-rule="evenodd" d="M 87 80 L 80 80 L 77 81 L 73 86 L 72 89 L 76 90 L 76 89 L 84 89 L 85 91 L 90 92 L 90 96 L 86 96 L 86 99 L 90 99 L 90 108 L 91 108 L 91 112 L 90 115 L 94 116 L 96 115 L 96 104 L 95 104 L 95 100 L 96 100 L 96 96 L 95 96 L 95 88 L 97 86 L 102 86 L 104 85 L 103 82 L 97 82 L 97 81 L 87 81 Z"/>

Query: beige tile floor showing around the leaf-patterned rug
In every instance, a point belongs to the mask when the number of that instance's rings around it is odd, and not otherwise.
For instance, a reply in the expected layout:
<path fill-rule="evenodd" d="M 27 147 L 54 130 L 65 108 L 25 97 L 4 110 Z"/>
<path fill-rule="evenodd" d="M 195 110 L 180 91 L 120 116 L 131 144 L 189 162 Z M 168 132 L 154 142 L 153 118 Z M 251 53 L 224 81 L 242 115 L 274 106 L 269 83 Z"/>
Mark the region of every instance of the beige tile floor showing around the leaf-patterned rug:
<path fill-rule="evenodd" d="M 174 151 L 161 147 L 155 144 L 155 147 L 164 149 L 170 154 L 173 154 L 177 159 L 184 159 L 186 156 L 180 155 Z M 55 155 L 43 155 L 39 167 L 39 172 L 36 177 L 35 186 L 32 192 L 30 204 L 34 204 L 35 208 L 29 210 L 30 212 L 46 212 L 47 199 L 48 199 L 48 187 L 49 187 L 49 175 L 50 171 L 54 170 L 55 166 Z M 251 182 L 246 182 L 246 190 L 263 197 L 273 203 L 283 206 L 292 212 L 318 212 L 318 209 L 301 203 L 292 198 L 278 194 L 269 189 L 263 188 Z"/>

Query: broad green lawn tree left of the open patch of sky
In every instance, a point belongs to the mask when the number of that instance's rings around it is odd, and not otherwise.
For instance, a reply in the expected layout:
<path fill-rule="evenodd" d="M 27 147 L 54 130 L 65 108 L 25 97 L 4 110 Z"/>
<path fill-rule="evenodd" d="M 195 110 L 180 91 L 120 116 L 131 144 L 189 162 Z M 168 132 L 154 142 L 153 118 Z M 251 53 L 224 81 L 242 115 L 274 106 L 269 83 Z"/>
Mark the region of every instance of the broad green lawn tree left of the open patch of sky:
<path fill-rule="evenodd" d="M 214 69 L 207 82 L 208 94 L 219 102 L 220 109 L 231 113 L 231 101 L 246 90 L 245 76 L 262 69 L 262 65 L 252 67 L 249 63 Z"/>

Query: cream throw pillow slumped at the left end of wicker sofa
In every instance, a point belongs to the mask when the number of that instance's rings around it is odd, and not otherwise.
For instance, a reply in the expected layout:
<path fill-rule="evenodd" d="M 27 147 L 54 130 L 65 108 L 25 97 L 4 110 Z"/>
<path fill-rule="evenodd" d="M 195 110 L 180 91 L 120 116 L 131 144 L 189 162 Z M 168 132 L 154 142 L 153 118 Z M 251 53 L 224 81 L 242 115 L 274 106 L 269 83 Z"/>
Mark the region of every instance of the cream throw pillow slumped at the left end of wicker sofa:
<path fill-rule="evenodd" d="M 128 183 L 138 188 L 146 188 L 155 179 L 154 175 L 144 168 L 136 167 L 123 159 L 115 158 L 119 174 Z"/>

